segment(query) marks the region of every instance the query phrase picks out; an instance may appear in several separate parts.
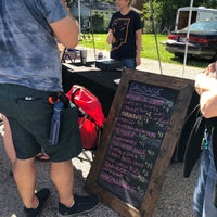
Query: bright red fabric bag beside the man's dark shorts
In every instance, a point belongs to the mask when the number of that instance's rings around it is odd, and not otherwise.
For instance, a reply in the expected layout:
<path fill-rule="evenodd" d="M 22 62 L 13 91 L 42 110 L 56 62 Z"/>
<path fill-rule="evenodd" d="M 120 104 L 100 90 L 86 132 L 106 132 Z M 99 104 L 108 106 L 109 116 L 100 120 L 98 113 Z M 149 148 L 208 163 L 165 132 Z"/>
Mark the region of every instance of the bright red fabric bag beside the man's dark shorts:
<path fill-rule="evenodd" d="M 100 101 L 89 90 L 77 85 L 74 85 L 66 93 L 66 97 L 81 110 L 84 114 L 82 117 L 78 118 L 82 148 L 97 148 L 99 140 L 98 127 L 100 130 L 104 125 L 104 114 Z"/>

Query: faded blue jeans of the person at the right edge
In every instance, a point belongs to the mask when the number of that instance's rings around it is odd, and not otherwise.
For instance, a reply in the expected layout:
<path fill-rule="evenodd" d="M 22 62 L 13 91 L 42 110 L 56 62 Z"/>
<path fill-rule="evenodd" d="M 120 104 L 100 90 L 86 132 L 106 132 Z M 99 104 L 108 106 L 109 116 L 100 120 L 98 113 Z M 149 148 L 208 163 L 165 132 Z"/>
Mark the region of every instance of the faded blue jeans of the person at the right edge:
<path fill-rule="evenodd" d="M 214 165 L 213 145 L 209 141 L 208 149 L 202 153 L 200 175 L 193 194 L 193 209 L 196 217 L 216 217 L 217 208 L 213 203 L 216 168 Z"/>

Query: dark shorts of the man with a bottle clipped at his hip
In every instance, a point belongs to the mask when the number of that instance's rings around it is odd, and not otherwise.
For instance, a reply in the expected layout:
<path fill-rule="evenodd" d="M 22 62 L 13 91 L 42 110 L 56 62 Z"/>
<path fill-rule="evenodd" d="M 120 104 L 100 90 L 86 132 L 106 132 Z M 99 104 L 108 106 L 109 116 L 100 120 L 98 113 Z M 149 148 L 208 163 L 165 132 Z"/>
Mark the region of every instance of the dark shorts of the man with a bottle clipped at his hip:
<path fill-rule="evenodd" d="M 78 156 L 81 140 L 78 128 L 77 108 L 68 106 L 63 111 L 60 142 L 49 142 L 53 105 L 48 97 L 53 92 L 40 91 L 18 85 L 0 85 L 0 113 L 10 123 L 16 156 L 27 159 L 36 156 L 41 148 L 52 162 L 63 162 Z M 25 100 L 33 99 L 33 100 Z"/>

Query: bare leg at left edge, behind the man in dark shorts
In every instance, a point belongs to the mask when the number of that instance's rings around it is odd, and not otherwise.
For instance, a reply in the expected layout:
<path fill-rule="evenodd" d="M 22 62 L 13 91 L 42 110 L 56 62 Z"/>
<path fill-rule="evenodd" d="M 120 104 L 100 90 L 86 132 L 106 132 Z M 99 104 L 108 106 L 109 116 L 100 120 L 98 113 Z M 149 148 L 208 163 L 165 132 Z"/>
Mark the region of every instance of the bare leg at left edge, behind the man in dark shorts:
<path fill-rule="evenodd" d="M 7 155 L 11 162 L 12 167 L 14 166 L 14 163 L 16 161 L 16 154 L 13 145 L 11 129 L 9 125 L 9 120 L 4 115 L 2 115 L 3 124 L 4 124 L 4 136 L 3 136 L 3 144 L 7 152 Z"/>

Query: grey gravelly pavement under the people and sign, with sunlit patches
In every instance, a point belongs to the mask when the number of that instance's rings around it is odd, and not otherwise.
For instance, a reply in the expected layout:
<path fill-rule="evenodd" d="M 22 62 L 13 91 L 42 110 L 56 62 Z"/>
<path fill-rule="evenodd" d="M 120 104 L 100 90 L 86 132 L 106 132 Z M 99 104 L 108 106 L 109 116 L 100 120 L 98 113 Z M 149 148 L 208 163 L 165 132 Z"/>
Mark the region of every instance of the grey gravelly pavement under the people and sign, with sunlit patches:
<path fill-rule="evenodd" d="M 92 52 L 92 54 L 91 54 Z M 98 52 L 98 51 L 97 51 Z M 103 51 L 104 56 L 108 56 L 107 52 Z M 88 60 L 92 60 L 94 52 L 88 50 Z M 174 64 L 162 63 L 163 73 L 159 71 L 157 61 L 143 59 L 139 71 L 186 77 L 194 79 L 200 68 L 178 66 Z M 184 75 L 184 76 L 183 76 Z M 3 133 L 3 125 L 0 125 L 0 132 Z M 23 217 L 23 204 L 17 193 L 13 178 L 10 176 L 10 164 L 7 158 L 2 145 L 2 137 L 0 136 L 0 217 Z M 75 192 L 86 194 L 84 184 L 90 169 L 88 162 L 80 162 L 78 158 L 73 159 L 75 165 Z M 55 188 L 49 177 L 50 163 L 36 162 L 38 180 L 37 189 L 50 188 L 51 197 L 49 199 L 46 209 L 41 217 L 55 217 L 58 197 Z M 168 166 L 166 178 L 162 191 L 156 203 L 153 217 L 193 217 L 192 213 L 192 194 L 194 182 L 197 174 L 197 165 L 194 167 L 191 177 L 184 179 L 182 176 L 182 163 L 173 163 Z M 110 207 L 101 204 L 95 210 L 80 215 L 89 217 L 117 217 L 118 215 Z"/>

